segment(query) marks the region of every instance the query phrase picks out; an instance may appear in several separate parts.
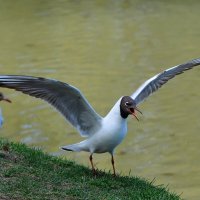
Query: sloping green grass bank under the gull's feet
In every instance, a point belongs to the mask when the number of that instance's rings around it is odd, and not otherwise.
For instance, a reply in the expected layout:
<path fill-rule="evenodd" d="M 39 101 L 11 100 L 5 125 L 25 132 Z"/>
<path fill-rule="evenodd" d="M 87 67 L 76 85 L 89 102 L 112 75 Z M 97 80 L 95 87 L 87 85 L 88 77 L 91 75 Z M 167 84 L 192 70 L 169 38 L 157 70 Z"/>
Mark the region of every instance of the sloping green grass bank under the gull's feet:
<path fill-rule="evenodd" d="M 113 177 L 0 139 L 0 199 L 180 200 L 138 177 Z"/>

